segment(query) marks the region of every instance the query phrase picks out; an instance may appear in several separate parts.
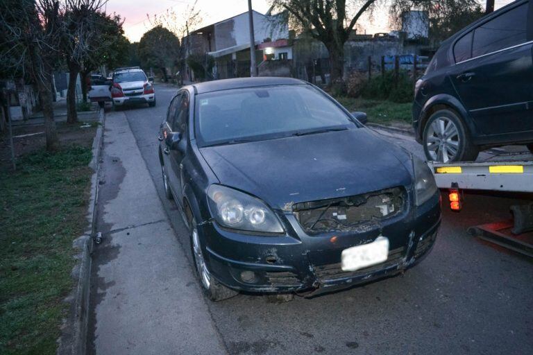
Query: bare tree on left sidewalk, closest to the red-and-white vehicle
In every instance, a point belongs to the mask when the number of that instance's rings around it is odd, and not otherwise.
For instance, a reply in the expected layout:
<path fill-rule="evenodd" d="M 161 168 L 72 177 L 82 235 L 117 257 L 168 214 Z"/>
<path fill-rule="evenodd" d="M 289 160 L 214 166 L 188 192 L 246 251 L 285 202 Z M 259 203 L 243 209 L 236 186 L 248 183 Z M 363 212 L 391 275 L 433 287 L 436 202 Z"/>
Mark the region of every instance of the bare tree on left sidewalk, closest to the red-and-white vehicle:
<path fill-rule="evenodd" d="M 67 89 L 67 122 L 78 121 L 76 112 L 76 81 L 94 49 L 95 39 L 99 37 L 99 10 L 107 0 L 63 0 L 64 31 L 61 51 L 69 69 L 69 87 Z M 85 85 L 85 83 L 81 83 Z"/>

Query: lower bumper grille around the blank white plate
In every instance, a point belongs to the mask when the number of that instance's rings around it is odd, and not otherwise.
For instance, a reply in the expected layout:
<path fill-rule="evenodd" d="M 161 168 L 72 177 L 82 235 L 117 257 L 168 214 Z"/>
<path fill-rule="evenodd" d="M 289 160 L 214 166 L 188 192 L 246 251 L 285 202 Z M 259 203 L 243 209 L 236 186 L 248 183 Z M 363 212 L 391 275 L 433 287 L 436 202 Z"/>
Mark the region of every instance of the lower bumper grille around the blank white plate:
<path fill-rule="evenodd" d="M 316 266 L 315 274 L 321 280 L 336 280 L 345 279 L 349 277 L 357 277 L 360 275 L 366 275 L 371 272 L 379 271 L 389 266 L 394 266 L 400 263 L 405 256 L 405 247 L 400 247 L 394 250 L 389 250 L 389 256 L 383 263 L 369 266 L 355 271 L 343 271 L 341 269 L 341 263 L 330 263 L 328 265 Z"/>

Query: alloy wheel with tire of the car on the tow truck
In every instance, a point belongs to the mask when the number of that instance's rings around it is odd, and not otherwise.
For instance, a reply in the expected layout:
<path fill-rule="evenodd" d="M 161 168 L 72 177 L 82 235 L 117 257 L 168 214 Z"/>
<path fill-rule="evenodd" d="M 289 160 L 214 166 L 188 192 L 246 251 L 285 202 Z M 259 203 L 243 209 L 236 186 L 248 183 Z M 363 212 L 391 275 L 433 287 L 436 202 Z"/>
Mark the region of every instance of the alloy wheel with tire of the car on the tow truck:
<path fill-rule="evenodd" d="M 432 162 L 473 162 L 480 153 L 459 116 L 446 109 L 434 112 L 425 123 L 422 144 Z"/>

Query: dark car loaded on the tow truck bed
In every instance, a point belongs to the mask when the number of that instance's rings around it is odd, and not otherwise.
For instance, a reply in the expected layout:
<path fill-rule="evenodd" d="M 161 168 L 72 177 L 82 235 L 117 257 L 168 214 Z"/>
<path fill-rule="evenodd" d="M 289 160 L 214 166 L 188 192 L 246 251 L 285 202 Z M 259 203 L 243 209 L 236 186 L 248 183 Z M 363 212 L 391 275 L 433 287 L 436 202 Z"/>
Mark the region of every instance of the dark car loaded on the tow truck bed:
<path fill-rule="evenodd" d="M 446 40 L 415 87 L 426 157 L 473 161 L 483 148 L 533 151 L 533 1 L 500 8 Z"/>

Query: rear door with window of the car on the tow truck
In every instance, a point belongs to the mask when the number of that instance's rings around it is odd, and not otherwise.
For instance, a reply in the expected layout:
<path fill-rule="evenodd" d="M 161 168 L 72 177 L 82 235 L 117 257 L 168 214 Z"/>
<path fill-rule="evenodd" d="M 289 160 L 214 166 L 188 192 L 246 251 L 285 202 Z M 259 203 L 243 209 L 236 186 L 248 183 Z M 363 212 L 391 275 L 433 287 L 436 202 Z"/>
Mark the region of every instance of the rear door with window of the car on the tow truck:
<path fill-rule="evenodd" d="M 529 3 L 473 28 L 454 44 L 450 71 L 459 98 L 484 135 L 533 130 L 533 42 Z"/>

